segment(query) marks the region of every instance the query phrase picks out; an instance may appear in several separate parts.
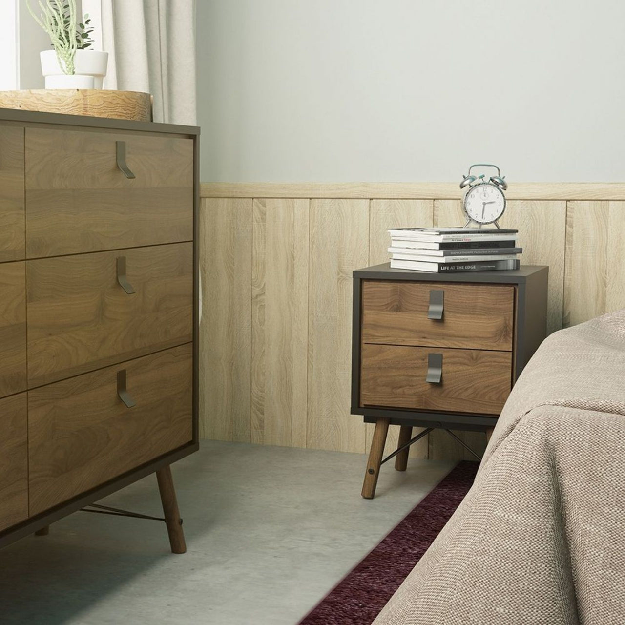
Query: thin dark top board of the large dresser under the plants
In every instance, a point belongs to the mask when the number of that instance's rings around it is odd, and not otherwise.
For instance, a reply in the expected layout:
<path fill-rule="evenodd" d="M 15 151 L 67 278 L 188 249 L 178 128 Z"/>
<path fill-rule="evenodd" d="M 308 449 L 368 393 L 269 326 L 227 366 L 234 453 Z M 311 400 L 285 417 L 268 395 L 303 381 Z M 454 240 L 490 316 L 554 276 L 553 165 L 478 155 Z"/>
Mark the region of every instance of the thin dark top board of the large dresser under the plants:
<path fill-rule="evenodd" d="M 78 126 L 80 128 L 106 128 L 108 130 L 140 130 L 149 133 L 199 134 L 197 126 L 178 126 L 156 122 L 131 121 L 129 119 L 95 118 L 86 115 L 64 115 L 62 113 L 41 113 L 20 109 L 1 109 L 0 124 L 3 121 L 21 124 L 54 124 L 57 126 Z"/>

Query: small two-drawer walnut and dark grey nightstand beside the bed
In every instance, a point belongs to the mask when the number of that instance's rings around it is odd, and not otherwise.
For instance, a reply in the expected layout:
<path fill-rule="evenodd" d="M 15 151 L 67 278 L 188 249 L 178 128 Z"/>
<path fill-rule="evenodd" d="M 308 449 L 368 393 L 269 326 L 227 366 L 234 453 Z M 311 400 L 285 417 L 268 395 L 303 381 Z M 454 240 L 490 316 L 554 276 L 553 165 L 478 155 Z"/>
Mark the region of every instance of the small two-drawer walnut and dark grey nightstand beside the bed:
<path fill-rule="evenodd" d="M 434 274 L 354 271 L 352 414 L 375 423 L 362 496 L 381 464 L 406 469 L 408 448 L 434 428 L 490 436 L 512 385 L 546 336 L 549 267 Z M 390 425 L 399 446 L 382 459 Z M 412 427 L 425 427 L 411 437 Z"/>

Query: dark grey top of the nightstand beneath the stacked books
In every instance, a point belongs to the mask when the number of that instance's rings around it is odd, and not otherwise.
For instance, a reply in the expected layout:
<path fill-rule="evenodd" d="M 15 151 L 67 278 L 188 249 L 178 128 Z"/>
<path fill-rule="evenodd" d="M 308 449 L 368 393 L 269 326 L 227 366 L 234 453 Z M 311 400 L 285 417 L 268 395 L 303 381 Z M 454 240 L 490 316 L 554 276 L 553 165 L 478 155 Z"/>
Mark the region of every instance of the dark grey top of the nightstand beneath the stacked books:
<path fill-rule="evenodd" d="M 500 282 L 502 284 L 521 284 L 528 277 L 542 271 L 548 272 L 545 265 L 521 265 L 515 271 L 466 271 L 456 273 L 436 273 L 432 271 L 414 271 L 412 269 L 391 269 L 389 262 L 381 265 L 356 269 L 354 277 L 369 280 L 412 280 L 416 282 Z"/>

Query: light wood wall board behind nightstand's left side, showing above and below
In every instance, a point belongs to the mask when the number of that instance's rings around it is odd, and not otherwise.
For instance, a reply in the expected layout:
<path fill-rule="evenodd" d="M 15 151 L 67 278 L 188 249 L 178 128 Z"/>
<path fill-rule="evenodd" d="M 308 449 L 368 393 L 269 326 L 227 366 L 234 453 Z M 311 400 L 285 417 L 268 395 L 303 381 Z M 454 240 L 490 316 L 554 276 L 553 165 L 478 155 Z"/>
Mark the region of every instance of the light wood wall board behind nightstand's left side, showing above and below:
<path fill-rule="evenodd" d="M 431 199 L 372 199 L 369 216 L 369 265 L 388 262 L 390 254 L 388 228 L 407 228 L 432 226 L 434 201 Z M 371 447 L 371 439 L 375 425 L 367 423 L 367 449 Z M 414 428 L 415 436 L 421 428 Z M 399 426 L 389 427 L 386 437 L 384 454 L 397 449 Z M 427 436 L 410 447 L 410 456 L 427 458 Z"/>

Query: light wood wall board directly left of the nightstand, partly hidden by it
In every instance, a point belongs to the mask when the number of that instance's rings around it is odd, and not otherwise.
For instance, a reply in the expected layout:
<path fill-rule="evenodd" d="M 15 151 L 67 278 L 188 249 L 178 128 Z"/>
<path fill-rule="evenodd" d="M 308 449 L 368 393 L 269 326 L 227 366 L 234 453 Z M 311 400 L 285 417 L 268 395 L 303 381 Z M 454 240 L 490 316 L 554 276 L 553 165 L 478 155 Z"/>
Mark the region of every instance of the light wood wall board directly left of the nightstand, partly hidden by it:
<path fill-rule="evenodd" d="M 369 261 L 369 201 L 310 207 L 308 447 L 365 451 L 351 403 L 352 271 Z"/>

